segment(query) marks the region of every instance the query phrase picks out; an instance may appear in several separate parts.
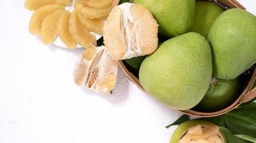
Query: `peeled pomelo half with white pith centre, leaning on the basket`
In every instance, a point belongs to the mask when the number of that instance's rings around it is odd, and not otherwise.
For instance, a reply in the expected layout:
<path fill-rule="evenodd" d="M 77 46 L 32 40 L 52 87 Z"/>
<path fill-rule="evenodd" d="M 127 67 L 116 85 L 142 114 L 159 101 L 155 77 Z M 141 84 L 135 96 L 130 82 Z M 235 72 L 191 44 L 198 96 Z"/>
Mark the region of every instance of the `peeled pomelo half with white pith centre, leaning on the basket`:
<path fill-rule="evenodd" d="M 104 44 L 116 59 L 145 56 L 157 49 L 157 31 L 157 21 L 148 9 L 124 3 L 112 9 L 104 24 Z"/>

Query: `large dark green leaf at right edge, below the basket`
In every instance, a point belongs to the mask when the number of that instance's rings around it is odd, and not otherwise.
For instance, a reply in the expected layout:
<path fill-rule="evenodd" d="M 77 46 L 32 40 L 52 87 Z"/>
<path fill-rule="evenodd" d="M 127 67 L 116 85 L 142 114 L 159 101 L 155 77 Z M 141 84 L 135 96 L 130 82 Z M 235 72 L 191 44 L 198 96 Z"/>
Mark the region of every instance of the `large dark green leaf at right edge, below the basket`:
<path fill-rule="evenodd" d="M 256 137 L 256 103 L 244 105 L 224 115 L 226 127 L 233 134 Z"/>

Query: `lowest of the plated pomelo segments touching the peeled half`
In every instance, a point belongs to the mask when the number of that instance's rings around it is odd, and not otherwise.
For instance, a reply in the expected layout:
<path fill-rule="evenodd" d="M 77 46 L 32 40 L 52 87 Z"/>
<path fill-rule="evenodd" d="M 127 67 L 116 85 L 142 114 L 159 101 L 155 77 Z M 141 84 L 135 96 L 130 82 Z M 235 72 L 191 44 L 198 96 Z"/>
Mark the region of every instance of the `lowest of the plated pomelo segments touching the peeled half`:
<path fill-rule="evenodd" d="M 104 21 L 102 19 L 86 19 L 81 12 L 77 12 L 79 22 L 86 27 L 88 31 L 102 35 Z"/>

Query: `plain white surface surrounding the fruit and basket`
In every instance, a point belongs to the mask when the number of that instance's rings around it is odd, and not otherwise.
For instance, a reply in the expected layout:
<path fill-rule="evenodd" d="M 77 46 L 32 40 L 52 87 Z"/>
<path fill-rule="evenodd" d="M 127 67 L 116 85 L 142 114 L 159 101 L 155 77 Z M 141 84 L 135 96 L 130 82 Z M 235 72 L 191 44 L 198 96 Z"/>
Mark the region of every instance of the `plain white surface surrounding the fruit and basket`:
<path fill-rule="evenodd" d="M 256 14 L 255 0 L 239 0 Z M 27 29 L 22 0 L 0 0 L 0 143 L 167 143 L 180 113 L 119 72 L 114 95 L 73 83 L 81 49 L 45 46 Z"/>

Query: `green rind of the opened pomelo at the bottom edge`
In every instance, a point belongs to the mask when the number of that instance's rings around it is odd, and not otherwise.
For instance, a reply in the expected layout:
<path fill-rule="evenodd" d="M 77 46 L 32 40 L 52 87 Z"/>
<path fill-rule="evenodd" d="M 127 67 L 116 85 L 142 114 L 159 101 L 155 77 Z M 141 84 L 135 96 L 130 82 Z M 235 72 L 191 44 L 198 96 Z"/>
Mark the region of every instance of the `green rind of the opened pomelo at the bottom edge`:
<path fill-rule="evenodd" d="M 187 122 L 183 122 L 173 132 L 173 136 L 170 138 L 170 143 L 178 143 L 184 132 L 186 132 L 190 127 L 196 126 L 198 124 L 200 124 L 201 126 L 216 126 L 211 122 L 200 121 L 200 120 L 190 120 Z M 224 139 L 224 142 L 226 142 L 226 139 Z"/>

